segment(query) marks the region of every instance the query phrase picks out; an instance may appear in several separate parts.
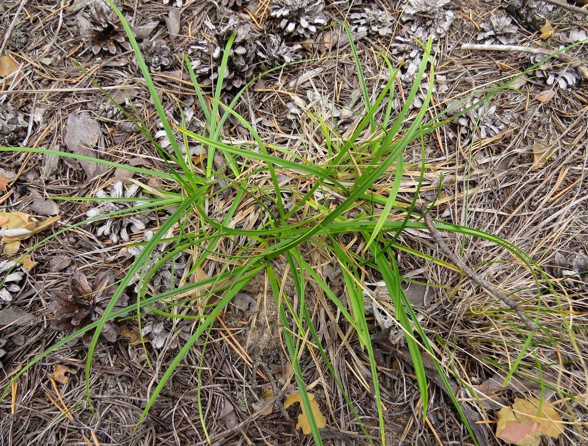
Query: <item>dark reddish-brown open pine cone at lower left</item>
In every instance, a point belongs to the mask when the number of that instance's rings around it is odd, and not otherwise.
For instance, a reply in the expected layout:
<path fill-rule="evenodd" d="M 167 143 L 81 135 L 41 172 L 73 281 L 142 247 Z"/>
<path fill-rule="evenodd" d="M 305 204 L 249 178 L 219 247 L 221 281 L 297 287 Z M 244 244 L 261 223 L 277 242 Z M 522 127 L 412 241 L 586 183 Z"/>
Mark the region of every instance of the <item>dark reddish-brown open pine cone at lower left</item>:
<path fill-rule="evenodd" d="M 55 320 L 49 328 L 52 330 L 68 330 L 70 333 L 98 320 L 106 306 L 112 299 L 116 287 L 113 287 L 112 273 L 101 273 L 96 276 L 92 286 L 86 276 L 76 271 L 72 276 L 69 293 L 55 293 L 49 303 L 49 311 L 55 315 Z M 116 302 L 113 311 L 121 310 L 129 303 L 129 296 L 122 294 Z M 115 342 L 118 336 L 118 326 L 107 321 L 102 328 L 101 337 L 108 342 Z M 92 331 L 83 334 L 83 345 L 89 347 L 92 341 Z"/>

